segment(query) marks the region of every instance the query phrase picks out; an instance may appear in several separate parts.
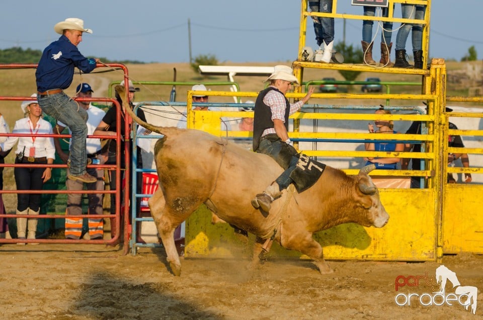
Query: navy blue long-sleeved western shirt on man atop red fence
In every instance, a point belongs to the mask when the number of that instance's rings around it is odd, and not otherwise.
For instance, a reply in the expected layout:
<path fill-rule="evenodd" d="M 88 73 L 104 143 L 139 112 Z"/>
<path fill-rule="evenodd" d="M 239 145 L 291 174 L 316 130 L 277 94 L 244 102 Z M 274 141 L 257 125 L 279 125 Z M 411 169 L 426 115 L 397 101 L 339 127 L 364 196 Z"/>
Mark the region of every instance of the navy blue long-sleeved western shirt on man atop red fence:
<path fill-rule="evenodd" d="M 67 89 L 72 83 L 74 67 L 85 73 L 96 68 L 96 60 L 88 59 L 79 52 L 66 36 L 49 44 L 40 58 L 35 77 L 37 91 Z"/>

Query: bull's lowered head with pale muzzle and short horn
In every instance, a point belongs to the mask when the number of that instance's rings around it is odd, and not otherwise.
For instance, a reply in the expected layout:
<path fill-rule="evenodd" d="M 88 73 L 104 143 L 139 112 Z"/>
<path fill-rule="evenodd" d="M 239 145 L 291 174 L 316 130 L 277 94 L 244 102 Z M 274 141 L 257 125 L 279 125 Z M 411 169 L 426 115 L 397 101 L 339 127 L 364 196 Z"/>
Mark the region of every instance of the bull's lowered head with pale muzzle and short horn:
<path fill-rule="evenodd" d="M 368 210 L 368 219 L 372 221 L 372 225 L 376 228 L 383 227 L 389 220 L 389 214 L 379 199 L 377 187 L 368 176 L 369 172 L 376 169 L 375 165 L 365 166 L 359 171 L 359 190 L 364 195 L 362 197 L 362 205 Z"/>

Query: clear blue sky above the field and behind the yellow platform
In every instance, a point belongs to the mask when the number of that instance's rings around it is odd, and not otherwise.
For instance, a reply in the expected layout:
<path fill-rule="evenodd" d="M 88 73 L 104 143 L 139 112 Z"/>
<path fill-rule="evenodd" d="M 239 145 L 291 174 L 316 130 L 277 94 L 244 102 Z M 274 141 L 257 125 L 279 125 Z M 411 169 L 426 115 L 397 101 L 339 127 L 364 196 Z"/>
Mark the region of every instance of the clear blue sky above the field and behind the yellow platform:
<path fill-rule="evenodd" d="M 339 0 L 338 5 L 341 13 L 362 12 L 361 7 L 352 7 L 349 0 Z M 478 58 L 483 58 L 483 1 L 433 0 L 432 7 L 430 55 L 459 60 L 474 45 Z M 396 5 L 395 16 L 399 15 Z M 53 26 L 69 17 L 84 19 L 85 27 L 94 31 L 92 35 L 85 34 L 79 44 L 79 50 L 89 56 L 188 62 L 190 19 L 193 57 L 214 54 L 221 62 L 291 61 L 297 56 L 300 1 L 4 1 L 0 11 L 4 30 L 0 48 L 43 50 L 58 38 Z M 361 21 L 355 20 L 346 24 L 346 42 L 357 48 L 361 25 Z M 342 35 L 343 23 L 336 20 L 336 42 L 342 40 Z M 376 43 L 379 40 L 378 35 Z M 311 21 L 306 45 L 316 47 Z M 412 51 L 410 38 L 407 49 Z"/>

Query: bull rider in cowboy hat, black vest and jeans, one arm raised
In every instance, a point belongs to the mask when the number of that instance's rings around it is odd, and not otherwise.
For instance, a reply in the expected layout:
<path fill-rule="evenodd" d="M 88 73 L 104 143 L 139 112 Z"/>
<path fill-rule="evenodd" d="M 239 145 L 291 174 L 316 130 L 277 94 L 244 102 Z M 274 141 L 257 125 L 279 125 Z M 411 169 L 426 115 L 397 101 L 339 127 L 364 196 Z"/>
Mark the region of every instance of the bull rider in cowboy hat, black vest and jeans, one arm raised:
<path fill-rule="evenodd" d="M 252 205 L 269 212 L 273 200 L 281 195 L 291 183 L 290 173 L 298 162 L 298 152 L 288 137 L 288 116 L 300 110 L 313 93 L 311 87 L 305 97 L 296 103 L 289 103 L 285 94 L 298 84 L 292 68 L 276 65 L 274 72 L 266 79 L 270 86 L 262 90 L 255 102 L 253 122 L 253 150 L 270 155 L 285 171 L 263 193 L 256 195 Z"/>

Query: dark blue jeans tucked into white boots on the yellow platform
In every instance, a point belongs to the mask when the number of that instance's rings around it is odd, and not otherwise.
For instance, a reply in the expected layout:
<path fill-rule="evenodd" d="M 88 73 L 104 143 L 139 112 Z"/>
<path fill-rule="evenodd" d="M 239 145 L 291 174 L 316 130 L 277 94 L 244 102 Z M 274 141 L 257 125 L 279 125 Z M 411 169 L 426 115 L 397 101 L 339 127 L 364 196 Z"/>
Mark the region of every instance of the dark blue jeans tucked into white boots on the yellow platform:
<path fill-rule="evenodd" d="M 332 13 L 332 0 L 309 1 L 308 6 L 312 12 Z M 312 17 L 312 21 L 318 46 L 334 41 L 334 18 Z"/>

